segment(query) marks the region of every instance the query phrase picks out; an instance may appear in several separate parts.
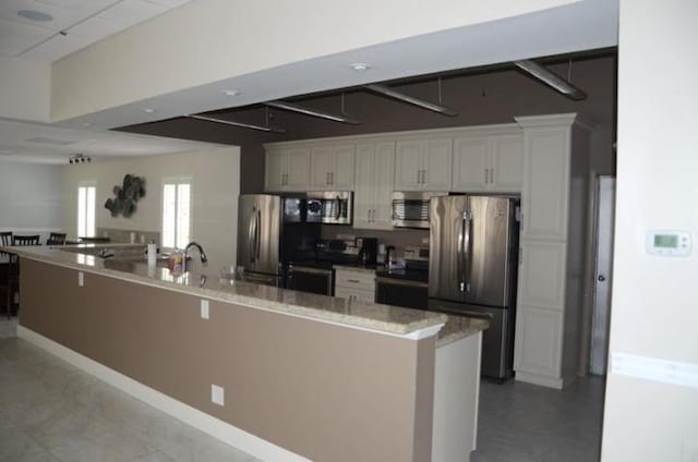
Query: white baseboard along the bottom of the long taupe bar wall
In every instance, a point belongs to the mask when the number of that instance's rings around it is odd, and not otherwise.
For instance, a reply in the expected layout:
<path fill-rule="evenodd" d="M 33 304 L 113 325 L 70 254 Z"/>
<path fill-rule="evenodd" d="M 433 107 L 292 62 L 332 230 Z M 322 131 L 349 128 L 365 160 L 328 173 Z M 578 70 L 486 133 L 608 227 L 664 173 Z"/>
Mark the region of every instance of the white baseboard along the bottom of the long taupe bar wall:
<path fill-rule="evenodd" d="M 60 357 L 73 366 L 91 374 L 103 381 L 129 393 L 148 405 L 152 405 L 179 421 L 191 425 L 214 438 L 233 446 L 257 459 L 264 461 L 279 462 L 310 462 L 299 454 L 290 452 L 279 446 L 276 446 L 265 439 L 249 434 L 243 429 L 234 427 L 227 422 L 206 414 L 195 408 L 178 401 L 167 394 L 147 387 L 131 377 L 128 377 L 117 370 L 113 370 L 104 364 L 97 363 L 87 356 L 84 356 L 62 344 L 27 329 L 17 326 L 17 337 L 24 339 L 49 353 Z"/>

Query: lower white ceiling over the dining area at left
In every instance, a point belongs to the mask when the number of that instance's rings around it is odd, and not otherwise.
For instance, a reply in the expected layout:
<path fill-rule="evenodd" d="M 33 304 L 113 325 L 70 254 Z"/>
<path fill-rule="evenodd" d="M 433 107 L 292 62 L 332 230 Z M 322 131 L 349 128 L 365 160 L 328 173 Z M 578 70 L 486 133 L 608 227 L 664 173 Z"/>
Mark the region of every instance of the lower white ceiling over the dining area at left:
<path fill-rule="evenodd" d="M 68 163 L 75 154 L 93 159 L 149 156 L 220 146 L 122 132 L 74 130 L 0 118 L 0 160 Z"/>

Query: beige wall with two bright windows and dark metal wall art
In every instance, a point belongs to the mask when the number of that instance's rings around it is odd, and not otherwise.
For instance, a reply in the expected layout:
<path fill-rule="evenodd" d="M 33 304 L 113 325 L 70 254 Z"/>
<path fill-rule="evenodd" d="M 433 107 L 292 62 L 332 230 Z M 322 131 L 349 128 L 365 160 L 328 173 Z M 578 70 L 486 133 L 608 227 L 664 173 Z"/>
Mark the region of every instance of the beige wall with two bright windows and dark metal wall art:
<path fill-rule="evenodd" d="M 112 218 L 104 207 L 112 189 L 127 173 L 145 178 L 146 195 L 131 218 Z M 240 194 L 240 148 L 225 147 L 203 151 L 96 160 L 64 167 L 64 228 L 74 236 L 77 227 L 77 185 L 95 181 L 97 227 L 160 232 L 161 184 L 168 178 L 191 177 L 192 240 L 204 246 L 209 271 L 218 273 L 234 263 Z"/>

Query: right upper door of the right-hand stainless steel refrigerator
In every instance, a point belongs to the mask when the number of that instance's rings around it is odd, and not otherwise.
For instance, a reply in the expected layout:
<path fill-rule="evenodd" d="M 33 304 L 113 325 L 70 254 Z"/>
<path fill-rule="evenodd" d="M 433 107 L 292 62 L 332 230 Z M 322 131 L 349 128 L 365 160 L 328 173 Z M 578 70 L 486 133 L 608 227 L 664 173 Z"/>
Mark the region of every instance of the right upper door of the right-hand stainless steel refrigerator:
<path fill-rule="evenodd" d="M 470 196 L 468 207 L 465 300 L 507 306 L 512 200 Z"/>

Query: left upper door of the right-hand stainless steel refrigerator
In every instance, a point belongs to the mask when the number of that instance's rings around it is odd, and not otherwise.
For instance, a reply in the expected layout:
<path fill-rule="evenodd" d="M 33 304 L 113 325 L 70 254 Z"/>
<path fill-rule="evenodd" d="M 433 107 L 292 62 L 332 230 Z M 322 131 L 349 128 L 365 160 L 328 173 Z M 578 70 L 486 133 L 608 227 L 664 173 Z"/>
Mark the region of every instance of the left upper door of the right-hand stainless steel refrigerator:
<path fill-rule="evenodd" d="M 429 296 L 460 302 L 467 196 L 432 197 L 430 204 Z"/>

